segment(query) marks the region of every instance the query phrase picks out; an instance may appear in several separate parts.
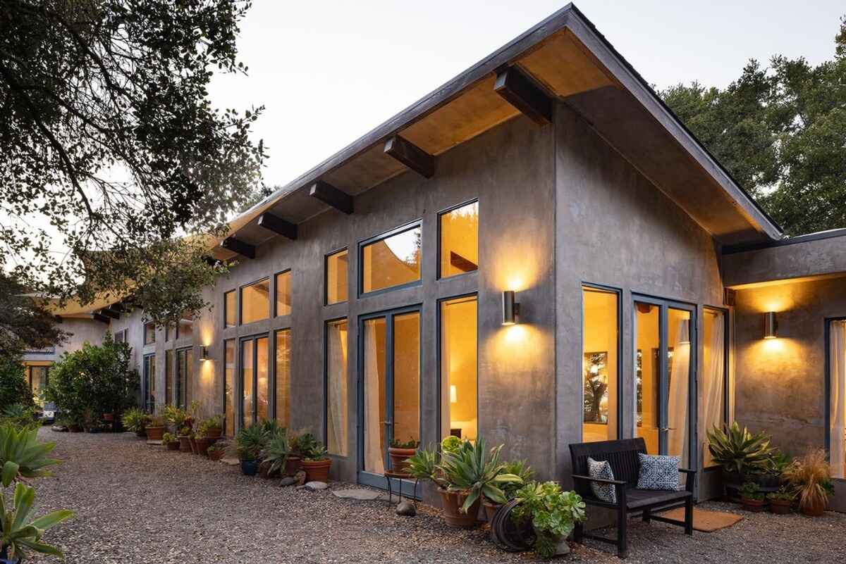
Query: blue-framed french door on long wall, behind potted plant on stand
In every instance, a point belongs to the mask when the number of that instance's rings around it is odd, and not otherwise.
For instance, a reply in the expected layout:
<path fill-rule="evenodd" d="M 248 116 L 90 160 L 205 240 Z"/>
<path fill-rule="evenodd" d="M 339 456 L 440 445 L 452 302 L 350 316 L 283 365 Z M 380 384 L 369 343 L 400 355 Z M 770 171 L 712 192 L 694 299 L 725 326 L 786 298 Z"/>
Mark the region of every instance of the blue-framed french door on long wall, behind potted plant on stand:
<path fill-rule="evenodd" d="M 385 486 L 387 448 L 420 440 L 420 307 L 359 319 L 359 481 Z"/>

